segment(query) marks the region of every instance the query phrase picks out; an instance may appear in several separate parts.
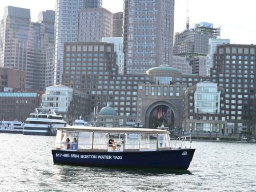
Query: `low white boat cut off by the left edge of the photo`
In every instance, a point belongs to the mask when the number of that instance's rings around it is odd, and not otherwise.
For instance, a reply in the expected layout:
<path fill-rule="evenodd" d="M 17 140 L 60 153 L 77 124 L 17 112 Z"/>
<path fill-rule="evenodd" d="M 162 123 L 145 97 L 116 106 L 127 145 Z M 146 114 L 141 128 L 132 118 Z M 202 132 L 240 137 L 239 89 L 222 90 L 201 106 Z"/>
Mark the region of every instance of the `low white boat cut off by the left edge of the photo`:
<path fill-rule="evenodd" d="M 24 123 L 21 121 L 0 121 L 0 133 L 22 134 Z"/>

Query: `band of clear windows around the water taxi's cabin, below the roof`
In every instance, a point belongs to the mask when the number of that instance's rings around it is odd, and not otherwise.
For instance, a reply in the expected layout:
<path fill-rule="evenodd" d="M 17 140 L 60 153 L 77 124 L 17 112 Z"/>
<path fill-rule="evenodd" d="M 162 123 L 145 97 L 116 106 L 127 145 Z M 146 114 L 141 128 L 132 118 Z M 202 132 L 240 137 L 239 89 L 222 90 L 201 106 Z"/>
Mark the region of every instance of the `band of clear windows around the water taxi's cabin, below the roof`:
<path fill-rule="evenodd" d="M 67 142 L 67 138 L 70 142 Z M 72 145 L 74 141 L 76 141 L 75 147 Z M 74 130 L 58 130 L 55 142 L 56 149 L 79 151 L 161 150 L 170 149 L 170 146 L 169 134 L 106 133 Z"/>

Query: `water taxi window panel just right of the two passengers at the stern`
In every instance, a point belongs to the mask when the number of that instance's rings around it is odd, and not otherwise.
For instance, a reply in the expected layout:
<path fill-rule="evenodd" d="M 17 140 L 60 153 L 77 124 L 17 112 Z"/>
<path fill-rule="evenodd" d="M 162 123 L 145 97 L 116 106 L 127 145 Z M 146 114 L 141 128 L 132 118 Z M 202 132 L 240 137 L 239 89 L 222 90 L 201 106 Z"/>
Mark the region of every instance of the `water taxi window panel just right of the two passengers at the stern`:
<path fill-rule="evenodd" d="M 93 143 L 93 132 L 79 132 L 78 150 L 91 149 Z"/>

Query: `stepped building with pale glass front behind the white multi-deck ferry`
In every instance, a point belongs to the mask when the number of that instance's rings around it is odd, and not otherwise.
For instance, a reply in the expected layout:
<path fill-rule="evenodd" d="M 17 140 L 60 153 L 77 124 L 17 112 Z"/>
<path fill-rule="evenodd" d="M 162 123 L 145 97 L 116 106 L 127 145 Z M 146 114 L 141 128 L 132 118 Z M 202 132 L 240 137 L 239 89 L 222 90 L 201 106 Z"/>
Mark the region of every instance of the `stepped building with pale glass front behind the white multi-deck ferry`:
<path fill-rule="evenodd" d="M 46 87 L 45 94 L 42 95 L 42 107 L 54 109 L 55 113 L 62 115 L 69 124 L 83 117 L 88 119 L 87 106 L 88 95 L 72 87 L 65 85 L 55 85 Z"/>

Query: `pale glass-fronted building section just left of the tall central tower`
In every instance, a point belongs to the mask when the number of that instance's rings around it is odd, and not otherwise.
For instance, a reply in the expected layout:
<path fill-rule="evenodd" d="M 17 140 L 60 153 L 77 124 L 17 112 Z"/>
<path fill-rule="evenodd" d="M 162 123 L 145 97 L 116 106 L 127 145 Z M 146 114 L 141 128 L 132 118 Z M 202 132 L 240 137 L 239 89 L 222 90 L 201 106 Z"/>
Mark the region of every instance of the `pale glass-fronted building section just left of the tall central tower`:
<path fill-rule="evenodd" d="M 114 50 L 117 53 L 118 73 L 124 73 L 125 54 L 123 53 L 123 38 L 122 37 L 103 37 L 102 42 L 114 43 Z"/>

